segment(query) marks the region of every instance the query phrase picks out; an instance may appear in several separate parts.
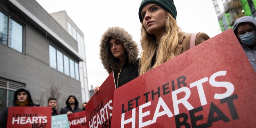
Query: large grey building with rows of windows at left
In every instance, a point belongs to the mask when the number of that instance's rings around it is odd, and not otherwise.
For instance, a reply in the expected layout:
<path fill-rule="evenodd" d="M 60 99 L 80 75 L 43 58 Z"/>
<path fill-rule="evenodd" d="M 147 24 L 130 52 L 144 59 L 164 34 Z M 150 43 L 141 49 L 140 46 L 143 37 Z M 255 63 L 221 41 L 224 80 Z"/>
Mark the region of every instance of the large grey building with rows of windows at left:
<path fill-rule="evenodd" d="M 60 13 L 66 20 L 60 22 L 35 0 L 0 0 L 1 110 L 20 87 L 41 106 L 52 94 L 60 95 L 59 102 L 75 95 L 80 107 L 90 99 L 84 35 L 65 11 Z"/>

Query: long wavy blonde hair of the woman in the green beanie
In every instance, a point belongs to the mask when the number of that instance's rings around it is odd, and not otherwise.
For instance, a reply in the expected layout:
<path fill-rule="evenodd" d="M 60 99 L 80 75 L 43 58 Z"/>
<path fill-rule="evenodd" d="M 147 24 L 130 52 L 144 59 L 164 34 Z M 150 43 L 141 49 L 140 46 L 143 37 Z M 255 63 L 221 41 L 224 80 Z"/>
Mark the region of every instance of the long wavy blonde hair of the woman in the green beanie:
<path fill-rule="evenodd" d="M 160 42 L 156 42 L 156 38 L 152 34 L 148 34 L 143 24 L 141 26 L 141 47 L 142 53 L 140 58 L 139 74 L 142 75 L 151 68 L 155 68 L 163 64 L 167 60 L 175 57 L 174 52 L 183 38 L 185 33 L 180 30 L 176 20 L 167 12 L 165 30 Z M 159 44 L 159 45 L 157 45 Z M 151 62 L 156 52 L 156 62 L 152 66 Z"/>

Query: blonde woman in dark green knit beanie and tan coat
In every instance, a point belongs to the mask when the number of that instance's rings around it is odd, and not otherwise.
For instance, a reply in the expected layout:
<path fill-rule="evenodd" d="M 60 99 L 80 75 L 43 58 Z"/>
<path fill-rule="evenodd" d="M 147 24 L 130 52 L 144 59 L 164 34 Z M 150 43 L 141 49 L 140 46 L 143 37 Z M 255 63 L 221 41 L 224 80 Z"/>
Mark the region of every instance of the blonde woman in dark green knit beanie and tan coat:
<path fill-rule="evenodd" d="M 140 75 L 189 50 L 191 37 L 194 45 L 210 38 L 205 33 L 192 36 L 180 30 L 173 0 L 142 0 L 138 14 L 142 24 Z"/>

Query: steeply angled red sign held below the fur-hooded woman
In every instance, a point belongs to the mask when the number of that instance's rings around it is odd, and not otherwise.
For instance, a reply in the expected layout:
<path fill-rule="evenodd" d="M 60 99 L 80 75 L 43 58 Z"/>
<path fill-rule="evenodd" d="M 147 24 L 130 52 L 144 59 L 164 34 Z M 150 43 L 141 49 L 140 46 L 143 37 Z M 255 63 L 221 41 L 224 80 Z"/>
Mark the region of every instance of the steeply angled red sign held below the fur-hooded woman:
<path fill-rule="evenodd" d="M 100 91 L 94 94 L 85 106 L 88 128 L 110 128 L 115 89 L 112 72 L 100 86 Z"/>

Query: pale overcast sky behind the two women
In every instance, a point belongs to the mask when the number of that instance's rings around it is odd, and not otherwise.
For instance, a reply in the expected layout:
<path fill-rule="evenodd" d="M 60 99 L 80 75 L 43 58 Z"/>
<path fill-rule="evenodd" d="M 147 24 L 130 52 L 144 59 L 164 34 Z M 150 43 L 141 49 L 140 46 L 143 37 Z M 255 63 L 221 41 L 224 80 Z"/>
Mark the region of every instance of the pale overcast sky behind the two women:
<path fill-rule="evenodd" d="M 100 86 L 108 77 L 99 58 L 102 34 L 108 27 L 126 29 L 140 47 L 138 9 L 142 0 L 36 0 L 48 13 L 65 10 L 84 33 L 88 85 Z M 221 33 L 212 0 L 174 0 L 177 23 L 187 33 Z M 220 7 L 222 6 L 221 3 Z"/>

